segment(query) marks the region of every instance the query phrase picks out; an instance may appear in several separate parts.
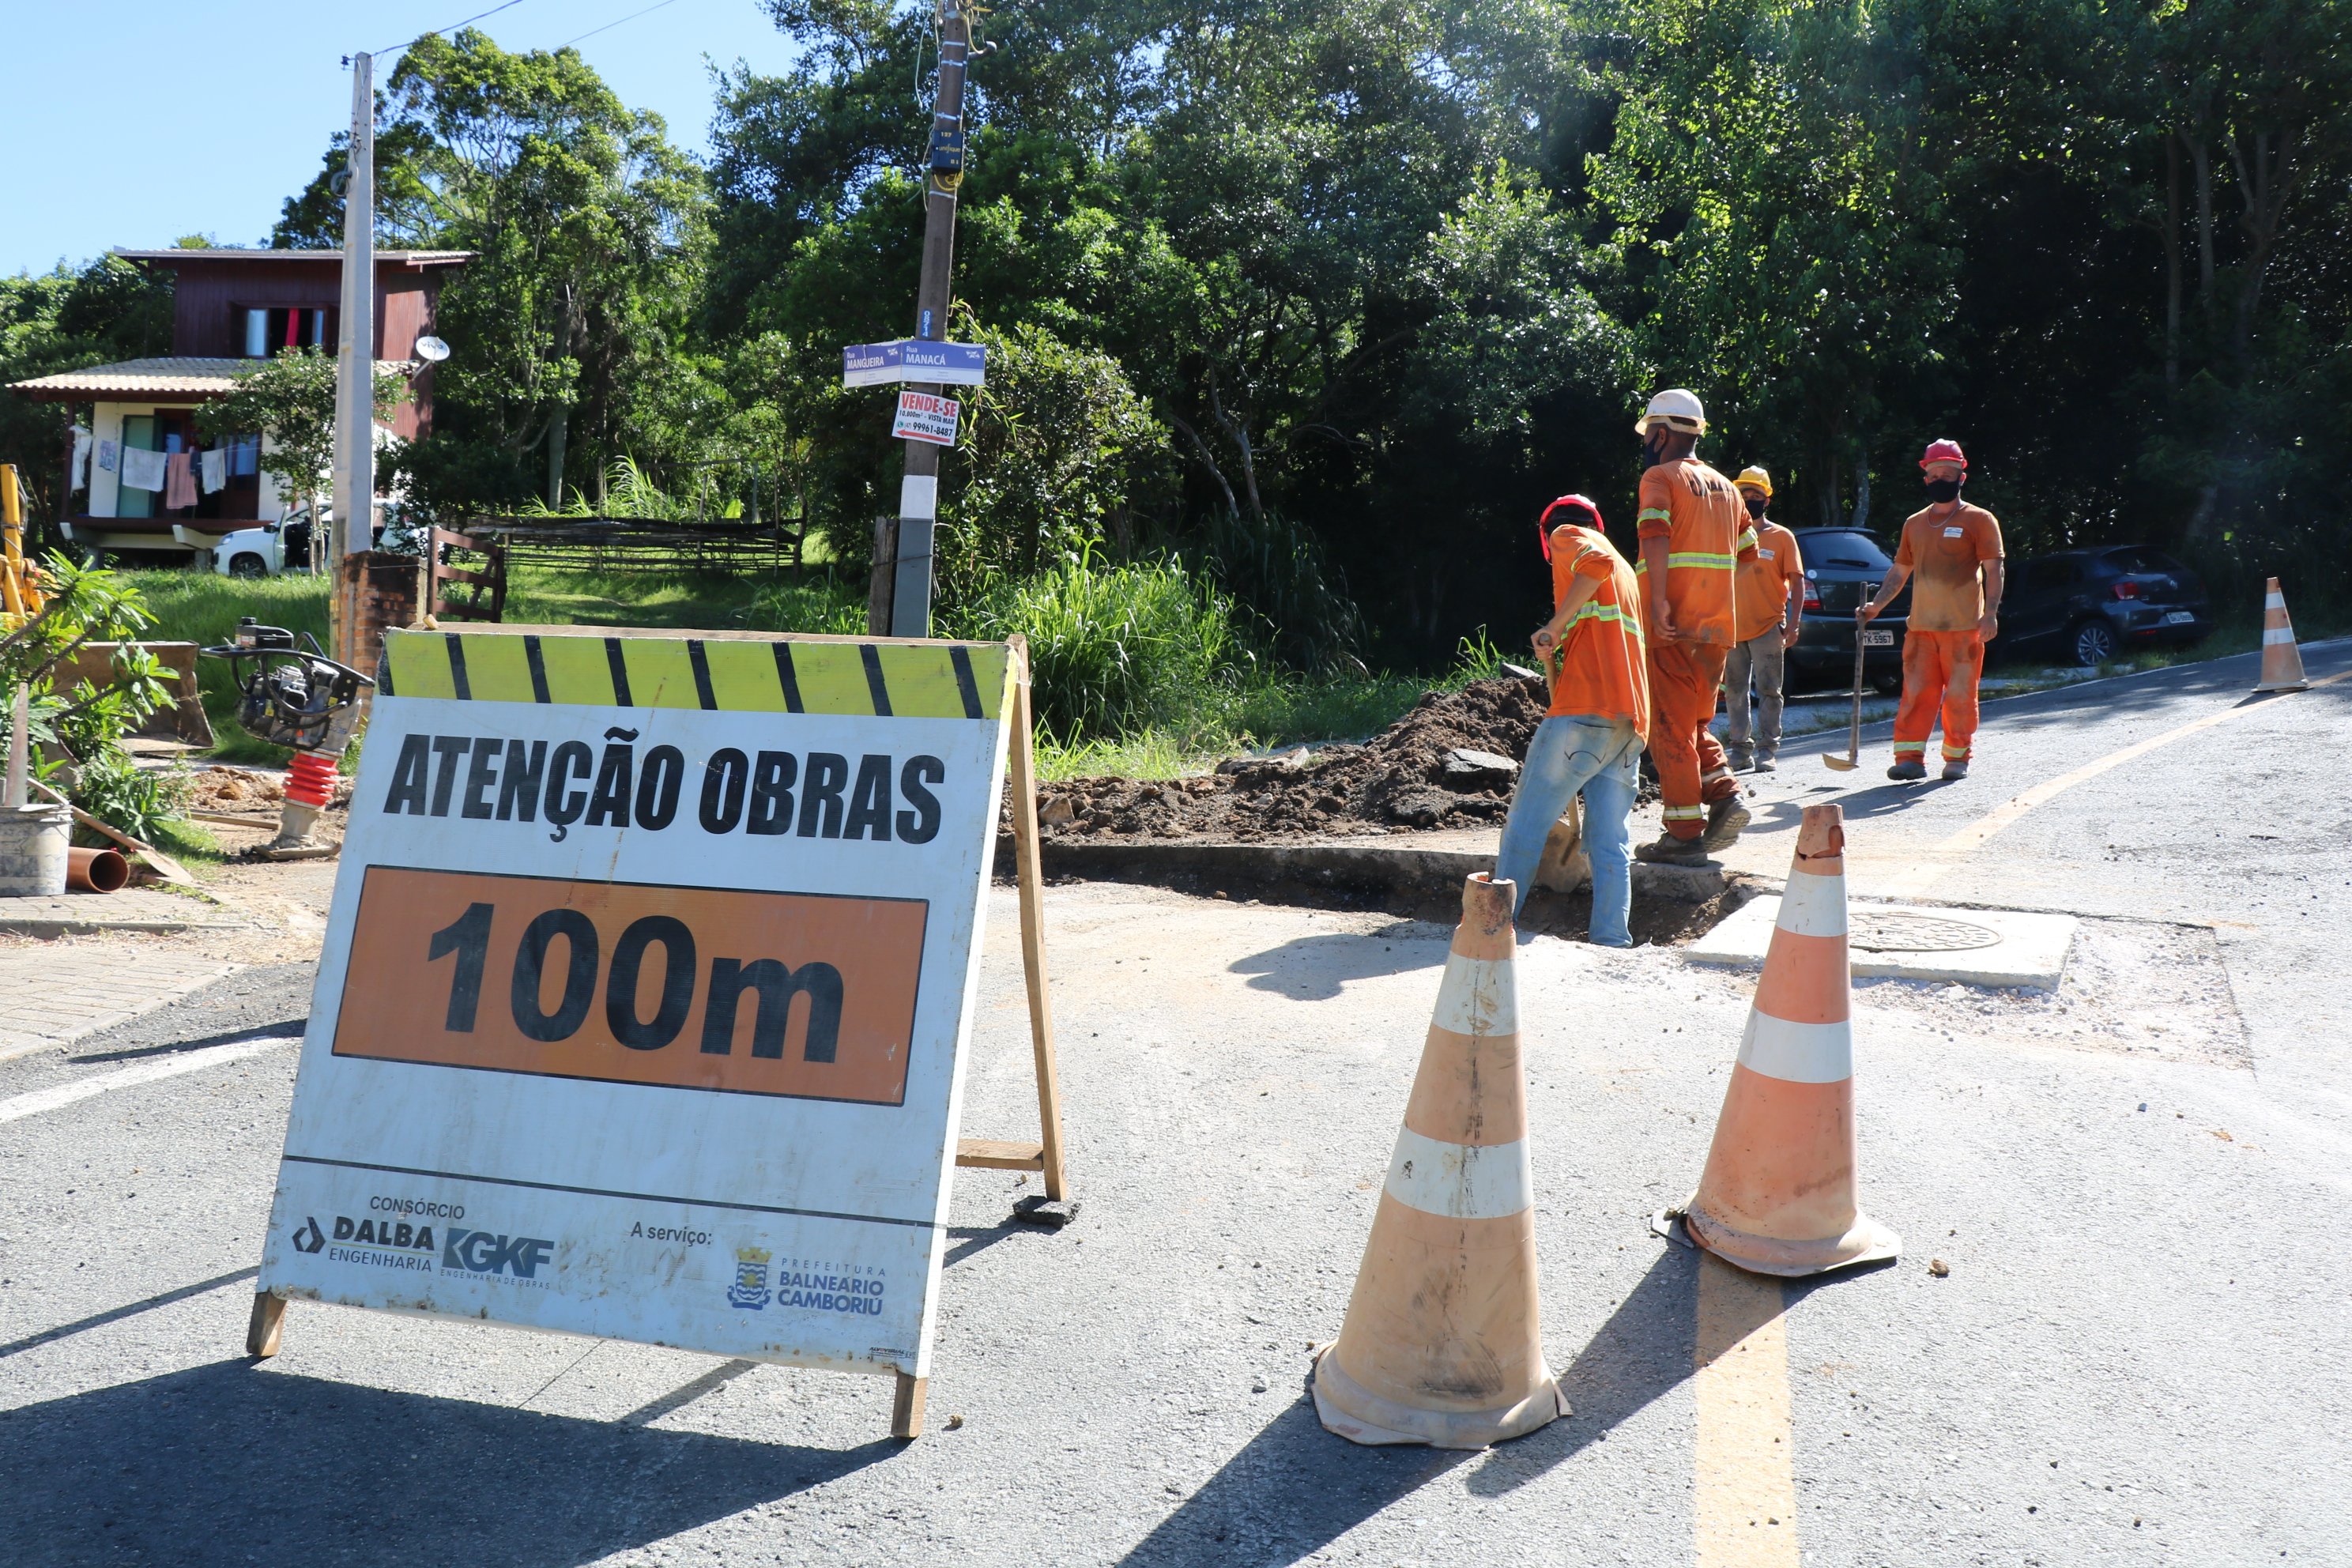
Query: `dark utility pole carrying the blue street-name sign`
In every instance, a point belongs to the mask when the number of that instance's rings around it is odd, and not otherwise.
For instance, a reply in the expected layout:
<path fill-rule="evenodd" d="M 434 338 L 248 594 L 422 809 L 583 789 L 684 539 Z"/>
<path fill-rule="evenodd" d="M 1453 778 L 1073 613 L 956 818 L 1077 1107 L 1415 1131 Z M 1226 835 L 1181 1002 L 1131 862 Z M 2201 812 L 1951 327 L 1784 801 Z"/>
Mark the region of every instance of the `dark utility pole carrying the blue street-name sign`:
<path fill-rule="evenodd" d="M 922 282 L 915 336 L 948 336 L 948 282 L 955 270 L 955 190 L 964 183 L 964 66 L 971 59 L 971 0 L 938 0 L 938 96 L 931 101 L 931 153 L 922 181 Z M 915 393 L 941 393 L 936 383 Z M 938 447 L 906 442 L 896 527 L 875 531 L 875 590 L 866 630 L 875 637 L 931 635 L 931 531 L 938 520 Z M 884 576 L 884 559 L 891 562 Z"/>

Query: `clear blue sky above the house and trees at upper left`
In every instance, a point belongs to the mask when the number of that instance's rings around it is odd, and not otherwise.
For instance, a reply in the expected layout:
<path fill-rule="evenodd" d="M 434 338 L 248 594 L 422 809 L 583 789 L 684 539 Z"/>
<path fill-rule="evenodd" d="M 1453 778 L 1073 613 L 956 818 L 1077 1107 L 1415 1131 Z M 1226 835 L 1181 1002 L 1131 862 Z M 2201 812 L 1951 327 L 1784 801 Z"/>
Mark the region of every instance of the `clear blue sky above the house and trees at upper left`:
<path fill-rule="evenodd" d="M 350 122 L 341 56 L 445 28 L 496 0 L 212 0 L 12 5 L 0 92 L 0 273 L 205 233 L 256 244 Z M 553 49 L 652 0 L 520 0 L 477 24 Z M 708 150 L 710 68 L 781 71 L 790 42 L 757 0 L 670 0 L 579 52 L 670 139 Z M 376 80 L 390 73 L 379 59 Z"/>

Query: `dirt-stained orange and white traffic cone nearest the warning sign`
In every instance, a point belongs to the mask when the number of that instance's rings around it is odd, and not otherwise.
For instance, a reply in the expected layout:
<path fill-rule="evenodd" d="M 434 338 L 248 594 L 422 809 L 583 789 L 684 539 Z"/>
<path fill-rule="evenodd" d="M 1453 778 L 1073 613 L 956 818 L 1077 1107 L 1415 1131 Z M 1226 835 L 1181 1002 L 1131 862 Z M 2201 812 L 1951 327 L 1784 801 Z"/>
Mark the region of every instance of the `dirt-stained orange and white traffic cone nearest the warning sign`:
<path fill-rule="evenodd" d="M 1536 1321 L 1515 893 L 1463 886 L 1348 1319 L 1315 1359 L 1315 1413 L 1357 1443 L 1486 1448 L 1569 1413 Z"/>

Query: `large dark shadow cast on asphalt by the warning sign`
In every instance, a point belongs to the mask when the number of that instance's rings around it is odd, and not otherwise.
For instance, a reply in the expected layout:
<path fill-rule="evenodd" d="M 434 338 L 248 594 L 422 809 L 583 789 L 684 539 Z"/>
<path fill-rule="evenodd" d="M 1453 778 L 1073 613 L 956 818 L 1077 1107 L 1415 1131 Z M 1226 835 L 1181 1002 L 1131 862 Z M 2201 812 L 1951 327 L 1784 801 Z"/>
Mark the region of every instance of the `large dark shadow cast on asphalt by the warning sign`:
<path fill-rule="evenodd" d="M 214 1361 L 0 1413 L 9 1479 L 0 1540 L 14 1542 L 16 1568 L 226 1559 L 555 1568 L 666 1540 L 901 1448 L 753 1443 Z"/>

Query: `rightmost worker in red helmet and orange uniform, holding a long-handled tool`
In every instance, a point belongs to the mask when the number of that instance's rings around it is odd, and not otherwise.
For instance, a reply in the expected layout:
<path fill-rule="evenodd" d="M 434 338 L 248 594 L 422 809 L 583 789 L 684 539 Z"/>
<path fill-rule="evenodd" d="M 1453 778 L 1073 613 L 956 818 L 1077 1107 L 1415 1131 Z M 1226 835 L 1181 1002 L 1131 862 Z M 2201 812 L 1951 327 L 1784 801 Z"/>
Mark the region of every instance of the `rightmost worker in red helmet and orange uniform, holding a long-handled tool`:
<path fill-rule="evenodd" d="M 1856 637 L 1879 607 L 1912 585 L 1910 628 L 1903 632 L 1903 705 L 1896 708 L 1896 764 L 1889 778 L 1926 778 L 1926 733 L 1943 705 L 1943 776 L 1969 776 L 1976 741 L 1976 682 L 1985 644 L 2002 630 L 2002 522 L 1959 498 L 1969 456 L 1959 442 L 1929 442 L 1919 458 L 1926 510 L 1903 522 L 1896 567 L 1867 604 L 1856 607 Z"/>

